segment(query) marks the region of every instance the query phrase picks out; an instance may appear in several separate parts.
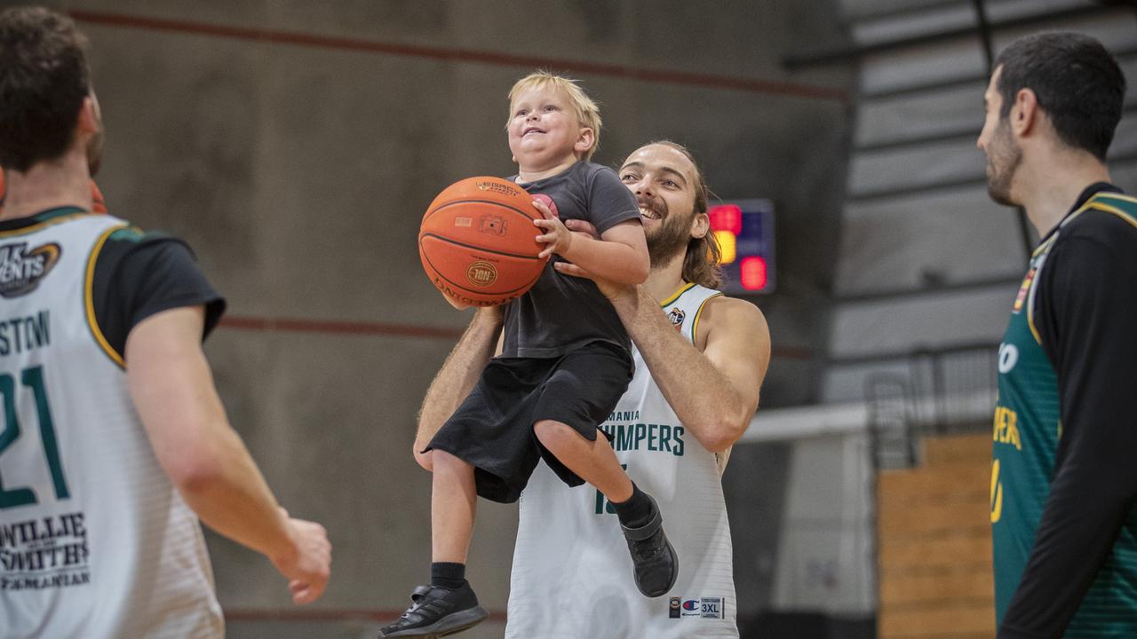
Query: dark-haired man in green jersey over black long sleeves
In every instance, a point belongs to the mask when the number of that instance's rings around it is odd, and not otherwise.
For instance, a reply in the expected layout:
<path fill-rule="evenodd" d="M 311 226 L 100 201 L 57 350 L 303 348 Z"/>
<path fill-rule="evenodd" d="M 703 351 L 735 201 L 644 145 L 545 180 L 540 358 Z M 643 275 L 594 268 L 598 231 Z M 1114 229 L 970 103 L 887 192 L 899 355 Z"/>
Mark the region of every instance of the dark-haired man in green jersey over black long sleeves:
<path fill-rule="evenodd" d="M 1137 637 L 1137 199 L 1105 166 L 1124 85 L 1101 43 L 1048 33 L 985 96 L 988 190 L 1041 238 L 998 357 L 1001 638 Z"/>

